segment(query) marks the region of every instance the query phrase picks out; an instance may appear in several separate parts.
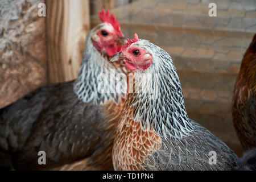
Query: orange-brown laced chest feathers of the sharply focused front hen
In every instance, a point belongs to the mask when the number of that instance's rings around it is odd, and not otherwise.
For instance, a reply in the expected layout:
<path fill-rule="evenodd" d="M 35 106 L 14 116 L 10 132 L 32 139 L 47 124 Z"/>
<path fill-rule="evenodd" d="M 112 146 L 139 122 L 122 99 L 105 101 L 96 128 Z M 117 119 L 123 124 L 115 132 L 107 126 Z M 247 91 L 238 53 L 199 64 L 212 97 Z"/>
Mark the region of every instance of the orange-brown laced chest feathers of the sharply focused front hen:
<path fill-rule="evenodd" d="M 144 159 L 161 147 L 161 139 L 151 127 L 142 129 L 139 121 L 129 118 L 132 110 L 118 124 L 112 154 L 115 170 L 143 170 Z"/>

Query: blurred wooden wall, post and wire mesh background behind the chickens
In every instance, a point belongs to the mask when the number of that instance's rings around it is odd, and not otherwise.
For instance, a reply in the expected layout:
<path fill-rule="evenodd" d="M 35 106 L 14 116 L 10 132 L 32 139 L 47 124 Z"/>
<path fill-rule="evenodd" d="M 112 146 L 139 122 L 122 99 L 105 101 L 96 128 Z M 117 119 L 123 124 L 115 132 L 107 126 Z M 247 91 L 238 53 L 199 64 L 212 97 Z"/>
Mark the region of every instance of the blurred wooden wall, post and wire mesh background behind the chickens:
<path fill-rule="evenodd" d="M 211 2 L 216 17 L 208 15 Z M 46 16 L 38 15 L 39 3 Z M 101 7 L 125 36 L 137 32 L 172 56 L 189 118 L 241 156 L 231 103 L 256 32 L 255 0 L 0 0 L 0 108 L 39 86 L 75 79 Z"/>

